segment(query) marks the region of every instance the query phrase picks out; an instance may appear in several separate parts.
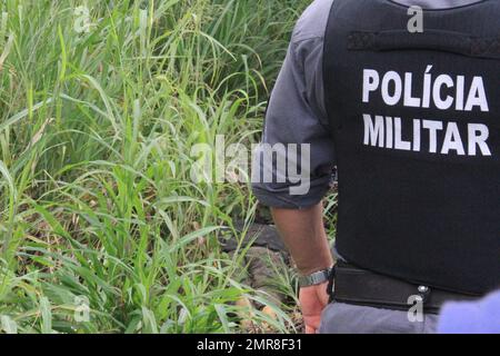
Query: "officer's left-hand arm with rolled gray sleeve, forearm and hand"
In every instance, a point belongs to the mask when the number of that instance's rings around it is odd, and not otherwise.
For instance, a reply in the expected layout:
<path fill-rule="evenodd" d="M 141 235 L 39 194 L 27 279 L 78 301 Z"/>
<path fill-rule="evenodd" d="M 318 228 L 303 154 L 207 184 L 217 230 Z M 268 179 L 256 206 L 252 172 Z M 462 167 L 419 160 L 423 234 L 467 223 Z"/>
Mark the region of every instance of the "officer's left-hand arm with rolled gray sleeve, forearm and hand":
<path fill-rule="evenodd" d="M 308 275 L 331 267 L 332 257 L 323 227 L 321 199 L 328 192 L 334 167 L 333 142 L 328 129 L 322 83 L 323 37 L 333 0 L 314 1 L 299 20 L 290 48 L 272 91 L 262 144 L 310 146 L 307 171 L 310 189 L 291 194 L 296 186 L 278 174 L 277 167 L 254 156 L 253 171 L 267 172 L 272 182 L 254 181 L 253 192 L 272 215 L 299 274 Z M 291 164 L 302 162 L 301 159 Z M 290 164 L 290 162 L 288 162 Z M 297 167 L 296 171 L 303 171 Z M 289 178 L 289 177 L 287 177 Z M 301 288 L 300 306 L 306 332 L 316 333 L 328 304 L 327 286 Z"/>

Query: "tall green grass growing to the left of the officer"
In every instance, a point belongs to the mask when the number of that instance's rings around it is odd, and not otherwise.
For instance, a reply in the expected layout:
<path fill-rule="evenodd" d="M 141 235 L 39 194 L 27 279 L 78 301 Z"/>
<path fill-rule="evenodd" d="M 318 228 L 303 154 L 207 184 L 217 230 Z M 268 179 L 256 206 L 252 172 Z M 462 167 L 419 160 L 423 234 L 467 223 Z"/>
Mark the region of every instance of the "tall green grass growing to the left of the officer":
<path fill-rule="evenodd" d="M 190 148 L 256 140 L 308 2 L 1 0 L 3 332 L 238 332 L 234 301 L 266 296 L 217 239 L 256 201 L 192 182 Z M 276 307 L 254 322 L 293 330 Z"/>

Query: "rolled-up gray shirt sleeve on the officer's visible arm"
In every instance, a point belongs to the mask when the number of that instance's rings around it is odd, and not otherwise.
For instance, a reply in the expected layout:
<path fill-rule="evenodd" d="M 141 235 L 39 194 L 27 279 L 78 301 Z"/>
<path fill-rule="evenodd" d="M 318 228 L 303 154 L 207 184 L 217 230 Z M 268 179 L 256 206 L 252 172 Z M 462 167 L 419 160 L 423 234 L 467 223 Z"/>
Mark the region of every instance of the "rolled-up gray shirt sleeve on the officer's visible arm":
<path fill-rule="evenodd" d="M 334 152 L 324 109 L 322 79 L 323 37 L 329 13 L 326 6 L 331 6 L 331 1 L 317 0 L 293 31 L 269 101 L 262 142 L 254 151 L 253 192 L 260 202 L 270 207 L 303 209 L 313 206 L 331 186 Z M 277 167 L 279 164 L 274 156 L 273 159 L 266 159 L 270 157 L 266 150 L 272 150 L 276 145 L 287 148 L 286 169 Z M 291 157 L 289 145 L 299 148 L 307 145 L 309 149 L 299 149 L 299 156 Z M 306 154 L 308 157 L 304 157 Z M 292 171 L 300 171 L 303 180 L 297 182 L 292 179 L 290 167 Z M 272 177 L 272 181 L 263 179 L 266 176 Z M 308 185 L 308 188 L 293 189 L 300 185 Z"/>

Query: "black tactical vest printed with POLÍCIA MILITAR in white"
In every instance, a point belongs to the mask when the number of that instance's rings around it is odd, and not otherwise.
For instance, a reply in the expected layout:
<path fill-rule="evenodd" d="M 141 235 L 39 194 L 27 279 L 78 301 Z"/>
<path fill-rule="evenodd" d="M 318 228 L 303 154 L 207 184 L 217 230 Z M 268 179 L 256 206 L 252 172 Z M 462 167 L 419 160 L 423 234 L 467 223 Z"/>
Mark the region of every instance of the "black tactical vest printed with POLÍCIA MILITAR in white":
<path fill-rule="evenodd" d="M 420 19 L 392 1 L 333 1 L 337 249 L 372 271 L 484 294 L 500 286 L 500 1 Z"/>

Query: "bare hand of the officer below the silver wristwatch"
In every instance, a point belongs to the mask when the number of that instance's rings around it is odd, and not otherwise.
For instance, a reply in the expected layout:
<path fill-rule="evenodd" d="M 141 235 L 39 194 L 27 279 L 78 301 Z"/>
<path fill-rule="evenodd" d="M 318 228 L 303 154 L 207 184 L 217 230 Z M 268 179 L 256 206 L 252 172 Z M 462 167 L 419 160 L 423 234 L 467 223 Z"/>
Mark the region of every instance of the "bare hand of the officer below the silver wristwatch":
<path fill-rule="evenodd" d="M 329 299 L 327 286 L 328 281 L 300 289 L 299 300 L 306 324 L 306 334 L 317 334 L 319 329 L 321 313 L 327 307 Z"/>

